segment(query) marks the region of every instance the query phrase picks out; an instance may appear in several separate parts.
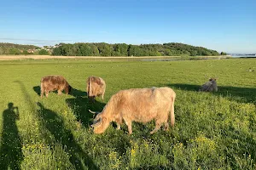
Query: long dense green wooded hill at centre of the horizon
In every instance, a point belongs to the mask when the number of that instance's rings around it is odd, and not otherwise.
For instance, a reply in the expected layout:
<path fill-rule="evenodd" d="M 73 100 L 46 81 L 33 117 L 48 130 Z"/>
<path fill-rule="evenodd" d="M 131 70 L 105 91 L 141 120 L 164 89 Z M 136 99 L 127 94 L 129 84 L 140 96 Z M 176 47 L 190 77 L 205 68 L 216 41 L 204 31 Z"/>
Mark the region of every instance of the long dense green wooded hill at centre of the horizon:
<path fill-rule="evenodd" d="M 125 43 L 60 43 L 53 55 L 64 56 L 174 56 L 219 55 L 217 51 L 183 43 L 128 45 Z"/>

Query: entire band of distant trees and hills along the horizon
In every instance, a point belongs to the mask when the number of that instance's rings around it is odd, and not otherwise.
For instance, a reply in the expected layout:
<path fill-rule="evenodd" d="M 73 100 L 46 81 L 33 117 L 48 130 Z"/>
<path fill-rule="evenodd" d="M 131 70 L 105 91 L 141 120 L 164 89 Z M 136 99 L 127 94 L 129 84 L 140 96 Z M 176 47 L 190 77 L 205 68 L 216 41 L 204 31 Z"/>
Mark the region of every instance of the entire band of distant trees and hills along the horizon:
<path fill-rule="evenodd" d="M 33 45 L 20 45 L 0 42 L 0 54 L 52 54 L 63 56 L 212 56 L 217 51 L 195 47 L 183 43 L 142 44 L 125 43 L 60 43 L 39 48 Z M 225 54 L 225 53 L 221 53 Z"/>

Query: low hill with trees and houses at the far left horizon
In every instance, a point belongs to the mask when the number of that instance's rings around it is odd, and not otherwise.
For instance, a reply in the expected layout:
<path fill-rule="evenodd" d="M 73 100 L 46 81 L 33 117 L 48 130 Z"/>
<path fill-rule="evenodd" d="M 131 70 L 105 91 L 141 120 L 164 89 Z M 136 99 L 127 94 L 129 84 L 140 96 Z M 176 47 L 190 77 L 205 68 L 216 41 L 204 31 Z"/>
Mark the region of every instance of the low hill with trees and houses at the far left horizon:
<path fill-rule="evenodd" d="M 15 43 L 0 42 L 0 54 L 42 54 L 47 55 L 49 52 L 34 45 L 21 45 Z"/>

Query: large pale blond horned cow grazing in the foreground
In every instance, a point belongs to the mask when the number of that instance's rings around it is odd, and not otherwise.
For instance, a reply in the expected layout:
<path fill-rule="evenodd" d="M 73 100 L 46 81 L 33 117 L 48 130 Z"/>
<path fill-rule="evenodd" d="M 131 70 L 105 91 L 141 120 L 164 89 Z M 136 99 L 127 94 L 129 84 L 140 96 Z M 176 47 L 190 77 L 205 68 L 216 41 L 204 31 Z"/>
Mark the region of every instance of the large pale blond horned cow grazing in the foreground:
<path fill-rule="evenodd" d="M 172 127 L 175 122 L 175 98 L 176 94 L 172 88 L 166 87 L 121 90 L 117 94 L 114 94 L 109 99 L 103 111 L 96 115 L 91 127 L 94 127 L 94 133 L 103 133 L 110 122 L 116 122 L 117 129 L 120 129 L 120 124 L 124 120 L 131 134 L 132 122 L 146 123 L 154 120 L 155 127 L 150 133 L 158 131 L 162 124 L 165 125 L 165 130 L 168 130 L 169 115 L 171 115 Z M 90 112 L 96 113 L 93 111 Z"/>

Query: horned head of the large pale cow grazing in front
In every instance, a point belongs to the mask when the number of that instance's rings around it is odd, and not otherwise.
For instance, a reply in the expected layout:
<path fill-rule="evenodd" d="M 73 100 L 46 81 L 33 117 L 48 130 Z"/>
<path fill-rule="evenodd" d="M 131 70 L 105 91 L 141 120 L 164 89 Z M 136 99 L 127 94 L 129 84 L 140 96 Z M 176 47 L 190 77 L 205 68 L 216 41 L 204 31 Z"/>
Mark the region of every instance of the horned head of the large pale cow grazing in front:
<path fill-rule="evenodd" d="M 93 121 L 93 124 L 90 125 L 91 127 L 93 127 L 93 132 L 97 133 L 97 134 L 104 133 L 105 130 L 108 128 L 109 123 L 110 123 L 108 121 L 108 117 L 103 116 L 102 112 L 101 113 L 96 113 L 94 111 L 90 111 L 90 112 L 94 113 L 94 114 L 97 114 L 94 121 Z"/>

